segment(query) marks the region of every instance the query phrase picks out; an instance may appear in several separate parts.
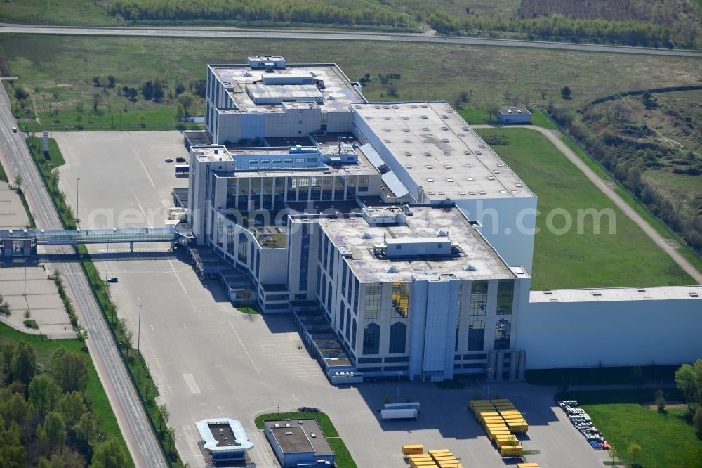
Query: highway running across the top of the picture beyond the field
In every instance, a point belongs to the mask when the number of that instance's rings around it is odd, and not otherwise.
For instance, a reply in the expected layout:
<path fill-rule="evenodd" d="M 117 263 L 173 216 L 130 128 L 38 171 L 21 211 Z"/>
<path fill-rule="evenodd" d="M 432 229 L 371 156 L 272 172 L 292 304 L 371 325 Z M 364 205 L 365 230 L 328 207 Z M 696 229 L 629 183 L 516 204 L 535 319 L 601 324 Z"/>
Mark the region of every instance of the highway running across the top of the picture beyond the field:
<path fill-rule="evenodd" d="M 433 44 L 465 44 L 473 46 L 503 46 L 525 48 L 549 48 L 563 51 L 589 51 L 608 53 L 637 53 L 654 56 L 702 57 L 702 51 L 670 51 L 665 48 L 628 46 L 601 46 L 597 44 L 572 44 L 569 42 L 519 41 L 513 39 L 487 39 L 475 37 L 442 37 L 428 34 L 397 32 L 336 32 L 324 30 L 260 30 L 225 27 L 177 28 L 177 27 L 74 27 L 0 24 L 0 33 L 20 34 L 77 34 L 88 36 L 152 36 L 152 37 L 210 37 L 251 39 L 318 39 L 344 41 L 401 41 L 428 42 Z"/>

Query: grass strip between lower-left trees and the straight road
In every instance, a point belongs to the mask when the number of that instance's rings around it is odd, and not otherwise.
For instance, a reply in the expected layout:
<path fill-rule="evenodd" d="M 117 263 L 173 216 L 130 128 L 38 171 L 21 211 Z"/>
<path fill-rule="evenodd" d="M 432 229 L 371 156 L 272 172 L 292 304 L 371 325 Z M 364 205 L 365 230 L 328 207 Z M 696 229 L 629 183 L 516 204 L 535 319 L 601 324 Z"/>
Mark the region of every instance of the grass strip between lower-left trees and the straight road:
<path fill-rule="evenodd" d="M 114 437 L 119 440 L 119 443 L 124 449 L 124 454 L 127 457 L 129 466 L 134 467 L 134 462 L 131 460 L 129 450 L 127 449 L 124 438 L 122 438 L 121 431 L 117 425 L 117 418 L 114 417 L 114 412 L 112 412 L 110 401 L 107 400 L 105 389 L 103 389 L 102 384 L 100 384 L 98 372 L 95 370 L 93 360 L 91 359 L 90 354 L 87 351 L 84 351 L 81 342 L 79 342 L 77 339 L 42 339 L 37 335 L 18 332 L 17 330 L 8 327 L 8 325 L 0 323 L 0 345 L 15 344 L 19 341 L 28 342 L 34 346 L 37 353 L 37 364 L 40 369 L 45 368 L 46 365 L 48 365 L 49 360 L 51 360 L 51 355 L 60 346 L 65 346 L 67 349 L 69 349 L 69 351 L 75 351 L 84 355 L 90 367 L 90 379 L 88 380 L 85 395 L 86 399 L 93 408 L 95 416 L 98 417 L 98 420 L 100 420 L 100 432 L 102 434 L 106 434 L 108 437 Z"/>

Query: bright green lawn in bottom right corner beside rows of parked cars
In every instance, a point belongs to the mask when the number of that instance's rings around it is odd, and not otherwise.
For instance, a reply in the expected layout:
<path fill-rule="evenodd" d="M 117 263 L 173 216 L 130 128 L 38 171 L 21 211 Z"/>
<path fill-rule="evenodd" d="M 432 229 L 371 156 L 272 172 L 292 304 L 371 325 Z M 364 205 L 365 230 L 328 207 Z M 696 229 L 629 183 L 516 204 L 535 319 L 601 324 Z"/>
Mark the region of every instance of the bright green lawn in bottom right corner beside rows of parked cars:
<path fill-rule="evenodd" d="M 626 449 L 641 446 L 637 464 L 644 468 L 702 467 L 702 441 L 684 420 L 682 408 L 665 414 L 632 403 L 582 405 L 592 423 L 616 448 L 619 458 L 632 464 Z"/>

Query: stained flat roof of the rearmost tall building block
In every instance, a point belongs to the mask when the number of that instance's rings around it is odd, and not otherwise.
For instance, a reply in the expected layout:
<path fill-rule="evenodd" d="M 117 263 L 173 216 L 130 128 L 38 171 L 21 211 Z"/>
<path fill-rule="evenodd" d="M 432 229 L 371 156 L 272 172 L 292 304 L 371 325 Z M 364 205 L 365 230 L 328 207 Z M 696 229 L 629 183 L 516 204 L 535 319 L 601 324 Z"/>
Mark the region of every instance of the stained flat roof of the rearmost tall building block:
<path fill-rule="evenodd" d="M 284 69 L 275 69 L 272 73 L 267 73 L 265 70 L 253 70 L 248 64 L 209 65 L 209 67 L 219 81 L 224 84 L 229 96 L 240 111 L 261 107 L 257 106 L 251 96 L 246 93 L 246 86 L 260 85 L 263 83 L 263 77 L 271 74 L 289 75 L 291 78 L 307 75 L 324 82 L 324 89 L 317 91 L 322 96 L 322 104 L 319 105 L 319 108 L 323 112 L 347 112 L 351 103 L 366 102 L 361 93 L 351 84 L 350 79 L 334 63 L 288 63 Z M 270 84 L 264 86 L 282 92 L 281 90 L 288 86 L 297 85 Z M 282 106 L 267 105 L 263 112 L 280 112 L 281 110 Z"/>

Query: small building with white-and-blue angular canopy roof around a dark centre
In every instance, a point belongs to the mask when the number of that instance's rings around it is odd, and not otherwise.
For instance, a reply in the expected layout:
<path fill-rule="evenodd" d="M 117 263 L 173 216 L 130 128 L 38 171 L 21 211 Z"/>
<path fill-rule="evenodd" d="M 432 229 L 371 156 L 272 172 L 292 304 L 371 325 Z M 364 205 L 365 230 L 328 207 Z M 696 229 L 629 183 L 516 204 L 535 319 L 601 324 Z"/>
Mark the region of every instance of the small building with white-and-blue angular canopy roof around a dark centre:
<path fill-rule="evenodd" d="M 241 462 L 253 443 L 241 422 L 229 418 L 201 420 L 195 424 L 213 462 Z"/>

